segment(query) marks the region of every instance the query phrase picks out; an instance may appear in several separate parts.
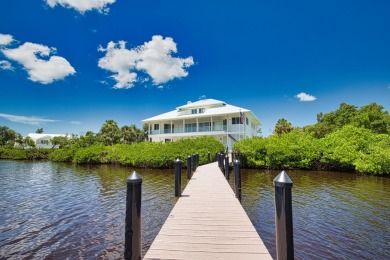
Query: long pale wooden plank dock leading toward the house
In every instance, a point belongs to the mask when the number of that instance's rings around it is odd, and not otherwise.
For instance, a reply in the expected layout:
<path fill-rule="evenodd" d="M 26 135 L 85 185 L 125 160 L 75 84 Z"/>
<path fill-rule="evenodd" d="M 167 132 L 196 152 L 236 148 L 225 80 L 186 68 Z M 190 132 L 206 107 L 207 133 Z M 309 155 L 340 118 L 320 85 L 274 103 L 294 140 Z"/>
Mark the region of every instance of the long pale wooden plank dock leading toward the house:
<path fill-rule="evenodd" d="M 218 168 L 198 167 L 144 259 L 272 259 Z"/>

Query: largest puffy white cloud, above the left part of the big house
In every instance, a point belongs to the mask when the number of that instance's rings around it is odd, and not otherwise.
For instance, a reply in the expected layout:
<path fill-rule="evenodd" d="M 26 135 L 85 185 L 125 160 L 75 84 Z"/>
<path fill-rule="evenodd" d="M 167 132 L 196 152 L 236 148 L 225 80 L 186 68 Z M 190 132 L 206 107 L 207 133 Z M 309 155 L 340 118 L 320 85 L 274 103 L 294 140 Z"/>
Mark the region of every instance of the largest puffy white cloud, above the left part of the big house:
<path fill-rule="evenodd" d="M 155 35 L 151 41 L 130 50 L 125 45 L 124 41 L 111 41 L 107 48 L 98 48 L 99 51 L 106 52 L 98 66 L 114 73 L 111 77 L 116 81 L 115 88 L 131 88 L 138 81 L 144 82 L 146 79 L 138 77 L 139 72 L 151 77 L 154 85 L 160 85 L 175 78 L 186 77 L 188 72 L 185 69 L 194 64 L 192 57 L 172 57 L 173 53 L 177 53 L 177 48 L 170 37 L 164 39 Z"/>

